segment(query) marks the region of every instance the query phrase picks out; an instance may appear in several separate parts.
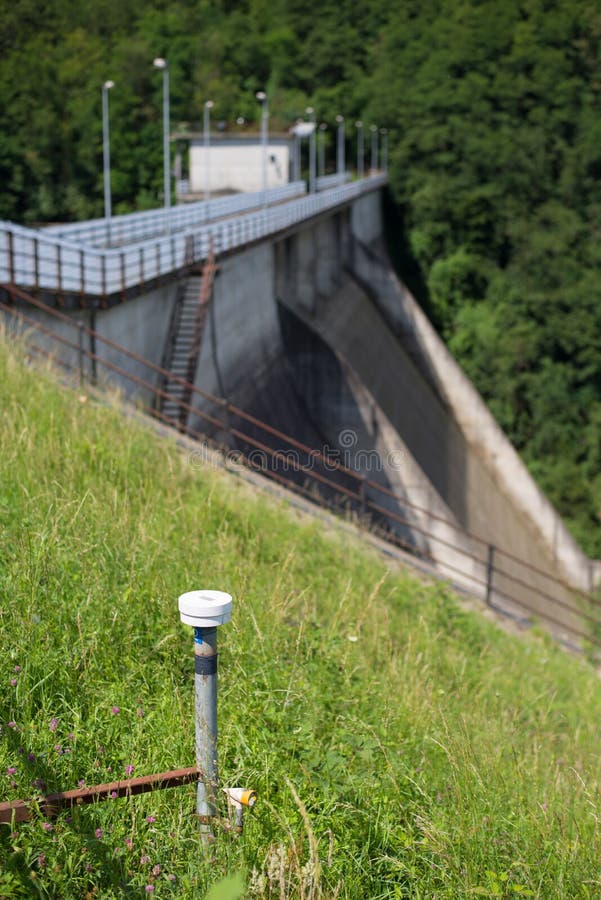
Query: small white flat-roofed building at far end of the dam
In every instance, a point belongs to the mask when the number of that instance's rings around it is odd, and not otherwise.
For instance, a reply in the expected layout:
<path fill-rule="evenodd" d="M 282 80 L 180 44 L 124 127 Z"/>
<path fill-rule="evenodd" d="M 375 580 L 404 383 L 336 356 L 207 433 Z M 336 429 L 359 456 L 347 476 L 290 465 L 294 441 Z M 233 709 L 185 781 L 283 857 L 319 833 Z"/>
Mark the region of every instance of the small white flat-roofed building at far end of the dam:
<path fill-rule="evenodd" d="M 202 134 L 189 135 L 188 189 L 191 194 L 205 190 L 260 191 L 263 187 L 263 147 L 258 134 L 211 133 L 207 150 Z M 267 146 L 267 187 L 290 181 L 289 135 L 270 135 Z"/>

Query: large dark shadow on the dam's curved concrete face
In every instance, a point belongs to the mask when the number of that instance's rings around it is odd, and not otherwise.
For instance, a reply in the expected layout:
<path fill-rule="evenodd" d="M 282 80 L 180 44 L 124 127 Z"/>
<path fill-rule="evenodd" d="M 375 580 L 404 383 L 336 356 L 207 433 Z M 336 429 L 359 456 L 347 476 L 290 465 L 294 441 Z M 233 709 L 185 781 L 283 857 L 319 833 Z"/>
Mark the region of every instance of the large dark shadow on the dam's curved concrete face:
<path fill-rule="evenodd" d="M 358 398 L 348 366 L 279 300 L 276 313 L 277 352 L 249 367 L 234 384 L 220 373 L 229 401 L 241 414 L 230 412 L 229 433 L 213 429 L 212 436 L 253 468 L 332 509 L 361 517 L 410 552 L 429 555 L 426 540 L 412 527 L 410 506 L 388 476 L 394 459 L 376 446 L 373 406 Z M 368 511 L 374 504 L 379 509 Z"/>

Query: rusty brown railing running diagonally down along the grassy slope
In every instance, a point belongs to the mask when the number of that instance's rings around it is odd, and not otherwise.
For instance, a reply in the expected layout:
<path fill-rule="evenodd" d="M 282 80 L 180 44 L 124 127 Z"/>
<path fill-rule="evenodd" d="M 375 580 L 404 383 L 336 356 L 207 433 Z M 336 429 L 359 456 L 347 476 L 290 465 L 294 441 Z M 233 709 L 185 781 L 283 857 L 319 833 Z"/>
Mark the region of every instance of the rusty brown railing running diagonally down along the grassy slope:
<path fill-rule="evenodd" d="M 444 516 L 400 496 L 384 484 L 347 468 L 335 457 L 297 441 L 224 398 L 208 393 L 160 366 L 74 321 L 58 310 L 5 286 L 13 298 L 30 302 L 50 317 L 68 324 L 72 337 L 58 334 L 40 321 L 0 303 L 9 321 L 29 331 L 33 355 L 50 356 L 80 381 L 96 381 L 104 371 L 117 378 L 139 407 L 186 435 L 219 447 L 251 469 L 312 501 L 369 522 L 383 540 L 407 551 L 408 558 L 431 566 L 455 587 L 479 597 L 492 609 L 527 623 L 540 621 L 556 638 L 572 648 L 601 648 L 601 600 L 573 588 L 548 571 L 493 546 Z M 62 327 L 61 325 L 61 327 Z M 36 343 L 43 336 L 43 344 Z M 104 358 L 102 347 L 111 359 Z M 186 385 L 192 400 L 182 404 L 189 425 L 157 411 L 157 398 L 166 397 L 158 385 Z M 163 381 L 165 384 L 165 381 Z M 199 450 L 202 455 L 202 450 Z M 416 541 L 415 536 L 420 541 Z"/>

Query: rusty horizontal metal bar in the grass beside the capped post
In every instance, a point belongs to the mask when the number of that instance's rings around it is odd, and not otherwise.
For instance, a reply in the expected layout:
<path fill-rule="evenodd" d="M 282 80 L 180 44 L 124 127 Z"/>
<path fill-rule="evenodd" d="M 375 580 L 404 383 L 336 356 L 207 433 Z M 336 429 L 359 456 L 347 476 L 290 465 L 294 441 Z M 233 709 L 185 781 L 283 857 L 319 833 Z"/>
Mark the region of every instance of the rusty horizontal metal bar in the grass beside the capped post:
<path fill-rule="evenodd" d="M 58 791 L 47 797 L 32 800 L 5 800 L 0 803 L 0 823 L 28 822 L 32 814 L 39 810 L 47 818 L 55 818 L 63 809 L 82 806 L 87 803 L 101 803 L 104 800 L 116 800 L 118 797 L 134 797 L 147 794 L 153 790 L 180 787 L 198 781 L 199 771 L 196 766 L 188 769 L 173 769 L 158 775 L 141 775 L 139 778 L 128 778 L 123 781 L 111 781 L 108 784 L 97 784 L 93 787 L 78 788 L 74 791 Z"/>

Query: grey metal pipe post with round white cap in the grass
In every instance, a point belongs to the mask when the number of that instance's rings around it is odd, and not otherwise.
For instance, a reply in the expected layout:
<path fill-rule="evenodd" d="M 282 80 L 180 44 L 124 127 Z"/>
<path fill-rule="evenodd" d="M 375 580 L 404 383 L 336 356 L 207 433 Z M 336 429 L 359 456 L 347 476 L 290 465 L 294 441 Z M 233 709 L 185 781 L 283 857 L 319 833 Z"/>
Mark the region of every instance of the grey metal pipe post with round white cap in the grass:
<path fill-rule="evenodd" d="M 217 815 L 217 628 L 229 622 L 232 598 L 223 591 L 189 591 L 178 600 L 180 618 L 194 628 L 196 764 L 199 772 L 196 814 L 206 848 L 213 841 Z"/>

